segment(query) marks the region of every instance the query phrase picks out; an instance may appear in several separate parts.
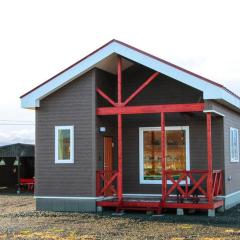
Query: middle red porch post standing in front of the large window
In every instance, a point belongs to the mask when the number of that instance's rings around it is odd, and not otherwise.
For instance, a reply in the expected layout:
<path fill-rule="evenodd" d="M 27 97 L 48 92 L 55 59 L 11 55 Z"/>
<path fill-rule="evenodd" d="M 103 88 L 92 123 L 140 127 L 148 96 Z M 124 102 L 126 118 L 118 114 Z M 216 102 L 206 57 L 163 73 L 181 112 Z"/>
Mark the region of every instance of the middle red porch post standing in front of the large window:
<path fill-rule="evenodd" d="M 162 202 L 165 203 L 167 193 L 166 181 L 166 147 L 165 147 L 165 114 L 161 113 L 161 150 L 162 150 Z"/>

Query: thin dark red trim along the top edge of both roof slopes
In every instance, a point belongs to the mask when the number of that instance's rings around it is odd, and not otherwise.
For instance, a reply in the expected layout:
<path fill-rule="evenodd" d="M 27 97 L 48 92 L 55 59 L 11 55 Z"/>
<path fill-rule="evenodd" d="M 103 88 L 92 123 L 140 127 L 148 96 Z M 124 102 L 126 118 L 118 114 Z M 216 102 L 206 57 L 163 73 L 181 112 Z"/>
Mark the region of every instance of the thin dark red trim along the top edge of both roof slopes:
<path fill-rule="evenodd" d="M 140 52 L 140 53 L 142 53 L 142 54 L 144 54 L 144 55 L 146 55 L 146 56 L 149 56 L 149 57 L 151 57 L 151 58 L 154 58 L 154 59 L 156 59 L 156 60 L 158 60 L 158 61 L 160 61 L 160 62 L 162 62 L 162 63 L 164 63 L 164 64 L 167 64 L 167 65 L 169 65 L 169 66 L 171 66 L 171 67 L 174 67 L 174 68 L 179 69 L 179 70 L 181 70 L 181 71 L 183 71 L 183 72 L 186 72 L 186 73 L 188 73 L 188 74 L 191 74 L 191 75 L 194 76 L 194 77 L 200 78 L 200 79 L 202 79 L 202 80 L 204 80 L 204 81 L 206 81 L 206 82 L 209 82 L 209 83 L 211 83 L 211 84 L 213 84 L 213 85 L 215 85 L 215 86 L 218 86 L 218 87 L 224 89 L 225 91 L 229 92 L 229 93 L 232 94 L 233 96 L 235 96 L 235 97 L 237 97 L 237 98 L 240 99 L 240 96 L 238 96 L 238 95 L 235 94 L 234 92 L 230 91 L 229 89 L 227 89 L 226 87 L 224 87 L 222 84 L 219 84 L 219 83 L 217 83 L 217 82 L 214 82 L 214 81 L 212 81 L 212 80 L 210 80 L 210 79 L 208 79 L 208 78 L 205 78 L 205 77 L 203 77 L 203 76 L 200 76 L 200 75 L 198 75 L 198 74 L 196 74 L 196 73 L 193 73 L 193 72 L 191 72 L 191 71 L 189 71 L 189 70 L 186 70 L 186 69 L 184 69 L 184 68 L 182 68 L 182 67 L 179 67 L 179 66 L 177 66 L 177 65 L 175 65 L 175 64 L 173 64 L 173 63 L 170 63 L 170 62 L 168 62 L 168 61 L 166 61 L 166 60 L 164 60 L 164 59 L 161 59 L 161 58 L 159 58 L 159 57 L 156 57 L 156 56 L 154 56 L 154 55 L 152 55 L 152 54 L 150 54 L 150 53 L 147 53 L 147 52 L 145 52 L 145 51 L 143 51 L 143 50 L 140 50 L 140 49 L 138 49 L 138 48 L 136 48 L 136 47 L 133 47 L 133 46 L 131 46 L 131 45 L 129 45 L 129 44 L 126 44 L 126 43 L 124 43 L 124 42 L 121 42 L 121 41 L 115 40 L 115 39 L 112 39 L 111 41 L 109 41 L 108 43 L 106 43 L 106 44 L 104 44 L 103 46 L 99 47 L 99 48 L 96 49 L 95 51 L 91 52 L 90 54 L 88 54 L 88 55 L 85 56 L 84 58 L 80 59 L 79 61 L 77 61 L 77 62 L 75 62 L 74 64 L 70 65 L 70 66 L 67 67 L 66 69 L 64 69 L 64 70 L 62 70 L 61 72 L 59 72 L 58 74 L 56 74 L 56 75 L 54 75 L 53 77 L 49 78 L 47 81 L 41 83 L 41 84 L 38 85 L 37 87 L 35 87 L 35 88 L 33 88 L 32 90 L 28 91 L 27 93 L 23 94 L 20 98 L 25 97 L 26 95 L 28 95 L 29 93 L 33 92 L 33 91 L 36 90 L 37 88 L 39 88 L 39 87 L 41 87 L 42 85 L 46 84 L 47 82 L 53 80 L 55 77 L 59 76 L 59 75 L 62 74 L 63 72 L 67 71 L 68 69 L 72 68 L 73 66 L 77 65 L 78 63 L 82 62 L 83 60 L 85 60 L 86 58 L 90 57 L 91 55 L 93 55 L 94 53 L 98 52 L 99 50 L 101 50 L 102 48 L 106 47 L 107 45 L 111 44 L 112 42 L 117 42 L 117 43 L 119 43 L 119 44 L 121 44 L 121 45 L 124 45 L 124 46 L 126 46 L 126 47 L 128 47 L 128 48 L 131 48 L 131 49 L 133 49 L 133 50 L 135 50 L 135 51 L 137 51 L 137 52 Z"/>

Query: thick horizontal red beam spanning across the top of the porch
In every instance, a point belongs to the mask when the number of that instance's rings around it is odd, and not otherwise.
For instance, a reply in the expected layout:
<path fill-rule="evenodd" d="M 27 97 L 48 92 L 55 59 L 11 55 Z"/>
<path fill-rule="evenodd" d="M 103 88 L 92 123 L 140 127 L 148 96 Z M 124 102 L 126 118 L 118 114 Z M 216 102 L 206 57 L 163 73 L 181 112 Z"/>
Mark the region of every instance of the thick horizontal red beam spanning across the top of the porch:
<path fill-rule="evenodd" d="M 100 107 L 97 115 L 144 114 L 161 112 L 203 112 L 204 103 L 166 104 L 148 106 Z"/>

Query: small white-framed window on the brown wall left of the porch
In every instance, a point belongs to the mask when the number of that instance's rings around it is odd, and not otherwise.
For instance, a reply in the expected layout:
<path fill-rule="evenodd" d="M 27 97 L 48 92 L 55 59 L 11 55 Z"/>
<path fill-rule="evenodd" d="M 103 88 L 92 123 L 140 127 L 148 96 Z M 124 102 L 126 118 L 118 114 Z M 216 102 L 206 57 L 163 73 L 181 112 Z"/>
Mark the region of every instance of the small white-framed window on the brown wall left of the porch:
<path fill-rule="evenodd" d="M 73 126 L 55 127 L 55 163 L 74 163 Z"/>

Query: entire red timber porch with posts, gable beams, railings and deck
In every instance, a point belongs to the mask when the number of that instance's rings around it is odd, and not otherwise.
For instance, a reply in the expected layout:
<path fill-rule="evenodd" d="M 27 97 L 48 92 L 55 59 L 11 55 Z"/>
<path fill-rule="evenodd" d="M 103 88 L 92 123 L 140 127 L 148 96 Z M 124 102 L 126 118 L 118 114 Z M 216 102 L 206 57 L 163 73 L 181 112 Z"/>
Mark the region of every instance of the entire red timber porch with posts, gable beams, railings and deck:
<path fill-rule="evenodd" d="M 109 170 L 103 167 L 103 169 L 97 171 L 96 195 L 101 197 L 101 200 L 97 201 L 97 206 L 114 207 L 117 211 L 122 209 L 153 210 L 157 213 L 166 208 L 216 209 L 223 205 L 223 200 L 218 198 L 219 195 L 223 194 L 223 171 L 213 169 L 212 116 L 214 114 L 206 111 L 203 102 L 130 105 L 132 100 L 153 82 L 158 75 L 159 73 L 153 73 L 123 101 L 122 59 L 118 57 L 117 100 L 112 99 L 102 89 L 97 88 L 99 97 L 104 99 L 108 104 L 107 106 L 97 107 L 97 116 L 115 116 L 117 122 L 117 170 Z M 169 114 L 188 114 L 188 116 L 199 114 L 203 121 L 205 121 L 205 169 L 181 169 L 180 167 L 171 169 L 167 166 L 166 134 L 168 125 L 166 125 L 166 116 Z M 157 130 L 158 134 L 160 134 L 161 144 L 159 144 L 160 157 L 158 159 L 161 166 L 160 168 L 156 168 L 160 170 L 158 172 L 158 182 L 156 181 L 158 185 L 155 185 L 155 188 L 156 186 L 159 187 L 159 192 L 158 194 L 123 194 L 123 163 L 127 161 L 123 155 L 123 119 L 126 116 L 143 115 L 154 115 L 159 118 L 159 129 Z M 187 141 L 187 139 L 184 141 Z M 139 154 L 141 155 L 141 153 Z M 184 165 L 186 166 L 187 163 L 185 162 Z M 145 177 L 144 175 L 143 179 Z"/>

